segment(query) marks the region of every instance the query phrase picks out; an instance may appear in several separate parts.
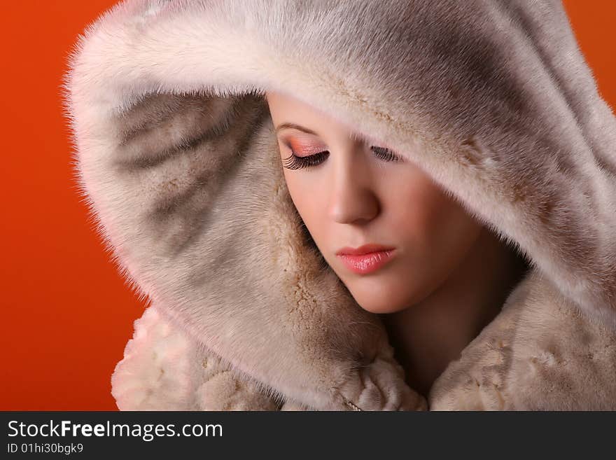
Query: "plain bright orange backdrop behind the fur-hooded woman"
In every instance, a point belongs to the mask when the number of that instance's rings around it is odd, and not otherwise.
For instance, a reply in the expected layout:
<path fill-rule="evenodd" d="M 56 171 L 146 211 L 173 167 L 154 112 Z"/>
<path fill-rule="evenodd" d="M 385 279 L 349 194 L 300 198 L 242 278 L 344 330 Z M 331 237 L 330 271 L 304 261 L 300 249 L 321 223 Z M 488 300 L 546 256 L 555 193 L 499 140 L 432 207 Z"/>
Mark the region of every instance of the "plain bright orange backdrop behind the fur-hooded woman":
<path fill-rule="evenodd" d="M 115 0 L 3 2 L 0 410 L 116 410 L 111 373 L 144 303 L 125 285 L 73 181 L 60 84 L 77 34 Z M 616 107 L 616 2 L 565 1 Z"/>

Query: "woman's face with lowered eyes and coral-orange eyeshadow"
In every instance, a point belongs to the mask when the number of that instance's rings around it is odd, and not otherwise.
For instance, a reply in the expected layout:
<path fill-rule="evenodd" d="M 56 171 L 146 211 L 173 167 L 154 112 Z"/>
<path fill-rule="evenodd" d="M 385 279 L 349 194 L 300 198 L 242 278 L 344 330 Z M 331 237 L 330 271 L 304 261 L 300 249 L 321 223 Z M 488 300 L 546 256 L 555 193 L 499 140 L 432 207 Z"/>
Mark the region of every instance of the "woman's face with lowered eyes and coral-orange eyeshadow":
<path fill-rule="evenodd" d="M 392 313 L 426 298 L 461 263 L 482 224 L 409 160 L 359 140 L 297 99 L 266 97 L 293 203 L 356 302 L 369 312 Z M 371 272 L 365 267 L 378 257 L 356 261 L 356 271 L 337 255 L 365 244 L 395 249 Z"/>

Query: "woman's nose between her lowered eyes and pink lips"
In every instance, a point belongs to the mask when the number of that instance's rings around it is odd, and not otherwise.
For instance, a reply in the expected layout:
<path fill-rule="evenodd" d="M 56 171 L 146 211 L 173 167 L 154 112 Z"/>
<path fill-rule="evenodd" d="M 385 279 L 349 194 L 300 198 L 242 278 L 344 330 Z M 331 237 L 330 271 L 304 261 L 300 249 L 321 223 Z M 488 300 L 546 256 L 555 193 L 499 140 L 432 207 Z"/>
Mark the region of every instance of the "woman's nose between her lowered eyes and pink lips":
<path fill-rule="evenodd" d="M 337 223 L 366 223 L 379 214 L 372 179 L 360 161 L 339 165 L 331 181 L 328 216 Z"/>

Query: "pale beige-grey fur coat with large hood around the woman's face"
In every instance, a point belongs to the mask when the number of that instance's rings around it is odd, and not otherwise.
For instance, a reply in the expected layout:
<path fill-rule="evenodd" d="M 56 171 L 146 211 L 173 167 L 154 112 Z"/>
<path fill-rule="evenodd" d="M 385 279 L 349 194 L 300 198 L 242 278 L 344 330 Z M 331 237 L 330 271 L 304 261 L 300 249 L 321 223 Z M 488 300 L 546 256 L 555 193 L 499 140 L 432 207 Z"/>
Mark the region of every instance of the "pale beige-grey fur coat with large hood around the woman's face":
<path fill-rule="evenodd" d="M 616 409 L 616 119 L 559 1 L 125 0 L 69 64 L 80 192 L 150 301 L 120 409 Z M 310 244 L 266 90 L 407 155 L 530 261 L 427 400 Z"/>

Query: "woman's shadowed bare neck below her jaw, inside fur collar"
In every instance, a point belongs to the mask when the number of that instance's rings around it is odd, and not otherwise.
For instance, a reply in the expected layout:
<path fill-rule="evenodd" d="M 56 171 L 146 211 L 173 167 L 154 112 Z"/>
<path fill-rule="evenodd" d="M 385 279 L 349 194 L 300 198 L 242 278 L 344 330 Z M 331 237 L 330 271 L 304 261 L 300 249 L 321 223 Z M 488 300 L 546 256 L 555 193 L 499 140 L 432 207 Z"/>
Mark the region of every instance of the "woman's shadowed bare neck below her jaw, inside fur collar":
<path fill-rule="evenodd" d="M 449 362 L 500 312 L 526 267 L 514 249 L 484 228 L 436 291 L 400 312 L 379 315 L 412 389 L 428 396 Z"/>

